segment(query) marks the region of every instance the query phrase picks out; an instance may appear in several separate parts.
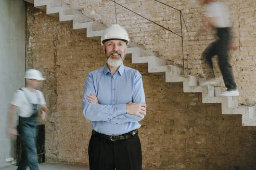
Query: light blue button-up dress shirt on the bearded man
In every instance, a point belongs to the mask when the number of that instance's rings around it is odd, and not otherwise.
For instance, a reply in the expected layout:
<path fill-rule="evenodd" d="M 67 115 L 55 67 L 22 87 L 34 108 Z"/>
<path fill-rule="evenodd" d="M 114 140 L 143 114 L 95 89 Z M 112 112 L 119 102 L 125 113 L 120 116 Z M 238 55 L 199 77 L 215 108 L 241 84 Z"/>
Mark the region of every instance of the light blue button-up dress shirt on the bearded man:
<path fill-rule="evenodd" d="M 84 82 L 83 115 L 91 120 L 96 132 L 105 135 L 121 135 L 138 129 L 141 125 L 137 115 L 126 113 L 126 104 L 145 103 L 142 75 L 123 64 L 112 75 L 106 64 L 88 74 Z M 90 103 L 88 94 L 98 97 L 99 104 Z"/>

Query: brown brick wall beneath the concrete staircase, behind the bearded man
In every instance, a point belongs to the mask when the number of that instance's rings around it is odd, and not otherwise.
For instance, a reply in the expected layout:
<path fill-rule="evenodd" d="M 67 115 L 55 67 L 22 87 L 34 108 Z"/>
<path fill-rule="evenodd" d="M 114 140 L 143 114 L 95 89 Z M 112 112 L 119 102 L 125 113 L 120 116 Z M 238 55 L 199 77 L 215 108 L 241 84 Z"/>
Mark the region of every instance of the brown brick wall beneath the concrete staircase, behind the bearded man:
<path fill-rule="evenodd" d="M 27 66 L 47 78 L 41 89 L 50 108 L 46 161 L 88 164 L 92 127 L 82 115 L 83 83 L 89 72 L 105 64 L 100 43 L 32 5 L 27 37 Z M 201 94 L 183 93 L 182 83 L 165 83 L 163 75 L 148 74 L 147 64 L 131 64 L 129 56 L 124 64 L 143 78 L 148 107 L 139 136 L 145 169 L 256 168 L 256 127 L 241 126 L 240 115 L 221 115 L 220 104 L 202 104 Z"/>

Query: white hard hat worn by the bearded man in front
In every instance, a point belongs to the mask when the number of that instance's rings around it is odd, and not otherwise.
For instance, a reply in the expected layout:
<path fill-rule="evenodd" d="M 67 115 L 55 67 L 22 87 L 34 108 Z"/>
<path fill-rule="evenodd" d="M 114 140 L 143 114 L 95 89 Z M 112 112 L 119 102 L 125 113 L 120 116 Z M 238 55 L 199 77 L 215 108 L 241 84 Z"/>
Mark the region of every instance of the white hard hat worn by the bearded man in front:
<path fill-rule="evenodd" d="M 130 41 L 128 33 L 124 30 L 122 26 L 118 24 L 113 24 L 104 31 L 103 35 L 101 36 L 101 46 L 103 46 L 104 43 L 110 39 L 124 40 L 127 42 L 127 45 Z"/>

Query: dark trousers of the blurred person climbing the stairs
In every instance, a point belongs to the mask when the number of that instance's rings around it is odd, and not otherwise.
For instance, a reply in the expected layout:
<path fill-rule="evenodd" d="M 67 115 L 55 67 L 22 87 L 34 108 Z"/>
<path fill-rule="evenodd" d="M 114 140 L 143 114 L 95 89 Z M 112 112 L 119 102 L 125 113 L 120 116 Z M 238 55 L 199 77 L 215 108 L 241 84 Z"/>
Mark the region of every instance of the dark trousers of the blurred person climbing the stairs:
<path fill-rule="evenodd" d="M 229 64 L 228 58 L 228 44 L 231 39 L 229 34 L 229 28 L 217 28 L 217 36 L 219 39 L 210 44 L 206 50 L 203 51 L 203 58 L 210 66 L 210 73 L 207 79 L 214 78 L 212 57 L 214 55 L 218 56 L 219 67 L 223 76 L 223 80 L 227 91 L 235 90 L 236 83 L 233 76 L 232 66 Z"/>

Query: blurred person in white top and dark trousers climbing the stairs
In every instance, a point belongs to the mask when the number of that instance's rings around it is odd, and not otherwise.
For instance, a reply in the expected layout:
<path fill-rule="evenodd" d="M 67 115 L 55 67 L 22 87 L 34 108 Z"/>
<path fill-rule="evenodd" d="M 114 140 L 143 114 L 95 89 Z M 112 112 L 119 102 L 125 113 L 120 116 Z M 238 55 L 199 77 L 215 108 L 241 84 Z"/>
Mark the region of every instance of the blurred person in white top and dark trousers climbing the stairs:
<path fill-rule="evenodd" d="M 216 0 L 201 0 L 206 5 L 206 17 L 203 25 L 197 32 L 195 39 L 206 31 L 207 28 L 213 27 L 217 32 L 217 40 L 211 43 L 204 51 L 203 58 L 210 66 L 210 73 L 206 75 L 207 81 L 201 83 L 201 86 L 215 85 L 220 79 L 216 79 L 213 72 L 212 57 L 218 56 L 219 66 L 227 91 L 221 96 L 239 96 L 235 83 L 232 66 L 229 64 L 228 51 L 235 49 L 234 43 L 231 43 L 230 30 L 232 26 L 231 17 L 228 8 L 222 2 Z"/>

